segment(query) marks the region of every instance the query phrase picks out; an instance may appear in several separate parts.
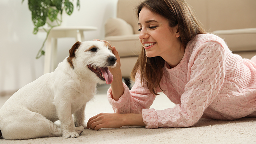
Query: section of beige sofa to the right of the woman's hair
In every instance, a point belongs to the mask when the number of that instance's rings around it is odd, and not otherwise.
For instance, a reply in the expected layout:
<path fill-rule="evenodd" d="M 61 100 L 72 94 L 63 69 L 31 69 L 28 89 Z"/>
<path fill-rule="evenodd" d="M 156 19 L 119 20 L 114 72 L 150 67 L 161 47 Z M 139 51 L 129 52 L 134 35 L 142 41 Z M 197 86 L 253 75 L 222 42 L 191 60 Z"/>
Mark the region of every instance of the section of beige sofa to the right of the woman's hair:
<path fill-rule="evenodd" d="M 223 38 L 233 53 L 256 55 L 255 0 L 187 0 L 206 30 Z"/>

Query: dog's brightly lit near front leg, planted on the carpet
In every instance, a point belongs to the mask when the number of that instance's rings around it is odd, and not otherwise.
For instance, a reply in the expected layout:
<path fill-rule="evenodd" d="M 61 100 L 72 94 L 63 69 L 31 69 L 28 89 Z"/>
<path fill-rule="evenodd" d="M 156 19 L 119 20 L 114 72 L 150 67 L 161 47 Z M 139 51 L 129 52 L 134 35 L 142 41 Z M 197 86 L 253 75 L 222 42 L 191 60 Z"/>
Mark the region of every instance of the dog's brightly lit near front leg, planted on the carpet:
<path fill-rule="evenodd" d="M 65 100 L 54 102 L 60 120 L 62 136 L 65 138 L 77 138 L 84 131 L 84 127 L 75 127 L 71 113 L 71 103 Z"/>

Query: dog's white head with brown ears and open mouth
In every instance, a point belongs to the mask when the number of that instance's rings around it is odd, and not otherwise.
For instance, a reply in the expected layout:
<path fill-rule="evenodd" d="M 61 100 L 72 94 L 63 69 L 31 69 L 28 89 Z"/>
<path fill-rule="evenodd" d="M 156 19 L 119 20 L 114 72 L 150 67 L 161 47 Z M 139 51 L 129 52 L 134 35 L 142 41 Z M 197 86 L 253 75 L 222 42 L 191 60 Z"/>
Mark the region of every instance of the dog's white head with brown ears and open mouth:
<path fill-rule="evenodd" d="M 97 83 L 106 81 L 107 84 L 111 84 L 113 81 L 113 75 L 108 67 L 114 66 L 116 58 L 112 53 L 111 45 L 107 41 L 78 41 L 69 49 L 67 61 L 70 67 L 76 69 L 79 73 L 85 73 L 96 78 Z"/>

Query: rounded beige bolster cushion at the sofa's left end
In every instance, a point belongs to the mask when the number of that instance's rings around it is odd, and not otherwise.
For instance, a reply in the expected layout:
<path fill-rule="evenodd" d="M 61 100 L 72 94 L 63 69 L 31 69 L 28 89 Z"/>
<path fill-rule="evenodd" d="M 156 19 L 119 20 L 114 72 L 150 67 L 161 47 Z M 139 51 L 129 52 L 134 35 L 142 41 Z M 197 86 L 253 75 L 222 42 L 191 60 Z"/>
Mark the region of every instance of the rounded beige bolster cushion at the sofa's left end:
<path fill-rule="evenodd" d="M 105 24 L 105 37 L 131 34 L 133 27 L 121 18 L 110 18 Z"/>

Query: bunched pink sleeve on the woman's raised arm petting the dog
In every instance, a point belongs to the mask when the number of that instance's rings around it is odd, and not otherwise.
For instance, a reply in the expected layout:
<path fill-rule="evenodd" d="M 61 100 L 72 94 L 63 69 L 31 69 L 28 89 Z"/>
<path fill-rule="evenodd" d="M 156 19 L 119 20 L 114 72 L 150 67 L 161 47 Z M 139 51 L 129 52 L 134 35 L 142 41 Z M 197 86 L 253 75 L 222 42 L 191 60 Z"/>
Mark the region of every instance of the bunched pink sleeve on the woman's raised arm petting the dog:
<path fill-rule="evenodd" d="M 141 85 L 138 73 L 136 74 L 135 84 L 131 90 L 123 83 L 124 93 L 118 101 L 112 98 L 111 87 L 108 89 L 108 101 L 112 105 L 115 113 L 142 113 L 142 109 L 148 109 L 155 100 L 156 96 L 151 94 L 149 89 Z"/>

